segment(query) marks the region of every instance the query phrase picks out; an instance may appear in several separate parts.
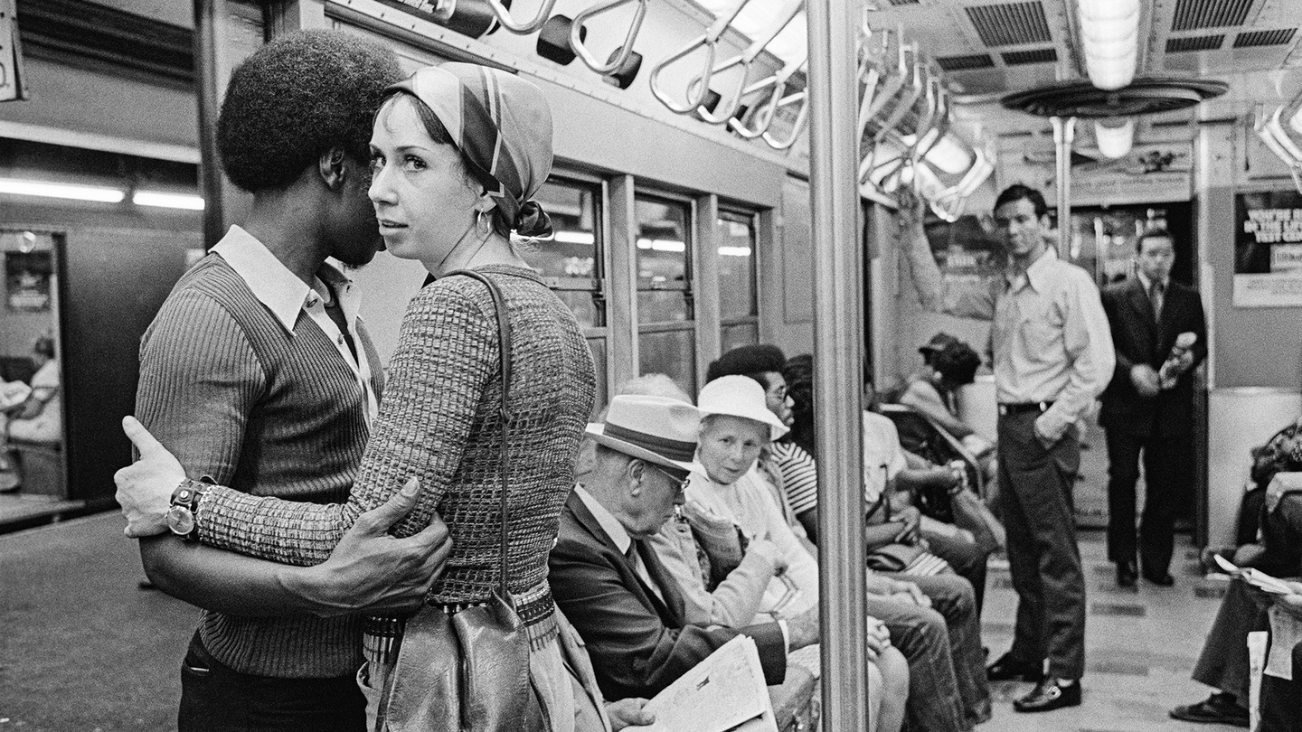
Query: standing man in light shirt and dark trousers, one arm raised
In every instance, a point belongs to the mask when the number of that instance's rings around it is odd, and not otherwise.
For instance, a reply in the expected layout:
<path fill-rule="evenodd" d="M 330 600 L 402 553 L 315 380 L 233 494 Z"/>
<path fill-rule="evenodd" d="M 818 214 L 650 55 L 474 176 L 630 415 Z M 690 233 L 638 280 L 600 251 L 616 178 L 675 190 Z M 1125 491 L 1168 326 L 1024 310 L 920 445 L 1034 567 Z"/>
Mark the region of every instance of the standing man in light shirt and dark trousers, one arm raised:
<path fill-rule="evenodd" d="M 1107 387 L 1116 362 L 1099 290 L 1085 270 L 1048 246 L 1048 207 L 1032 188 L 1009 186 L 995 201 L 1008 268 L 988 285 L 945 283 L 922 233 L 921 210 L 907 201 L 900 211 L 923 306 L 992 320 L 999 482 L 1018 607 L 1013 647 L 987 673 L 1038 683 L 1013 702 L 1017 711 L 1077 706 L 1085 576 L 1072 509 L 1081 464 L 1075 422 Z"/>

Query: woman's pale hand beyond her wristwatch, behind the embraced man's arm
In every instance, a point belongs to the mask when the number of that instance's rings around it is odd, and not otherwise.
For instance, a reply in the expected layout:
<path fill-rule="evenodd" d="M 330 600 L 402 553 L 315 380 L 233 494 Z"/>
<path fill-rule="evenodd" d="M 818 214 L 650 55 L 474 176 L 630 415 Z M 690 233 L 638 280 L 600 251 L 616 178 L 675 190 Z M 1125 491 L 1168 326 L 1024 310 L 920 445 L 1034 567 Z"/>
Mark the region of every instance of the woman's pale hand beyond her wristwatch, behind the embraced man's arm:
<path fill-rule="evenodd" d="M 139 460 L 113 474 L 126 535 L 139 539 L 165 534 L 172 491 L 185 479 L 185 468 L 135 417 L 122 418 L 122 431 L 141 453 Z"/>

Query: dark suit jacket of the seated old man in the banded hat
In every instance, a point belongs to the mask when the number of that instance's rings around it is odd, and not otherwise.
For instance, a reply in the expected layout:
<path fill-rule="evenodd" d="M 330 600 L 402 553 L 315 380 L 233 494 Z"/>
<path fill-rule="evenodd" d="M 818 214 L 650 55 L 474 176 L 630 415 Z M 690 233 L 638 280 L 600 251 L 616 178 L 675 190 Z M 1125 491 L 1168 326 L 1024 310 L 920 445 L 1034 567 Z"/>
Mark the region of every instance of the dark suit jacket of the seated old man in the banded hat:
<path fill-rule="evenodd" d="M 764 680 L 783 683 L 786 645 L 776 623 L 741 629 L 686 625 L 682 598 L 655 552 L 641 556 L 652 577 L 664 577 L 658 582 L 664 600 L 638 577 L 582 499 L 570 494 L 548 560 L 548 582 L 556 604 L 587 643 L 607 699 L 650 698 L 738 634 L 755 640 Z"/>

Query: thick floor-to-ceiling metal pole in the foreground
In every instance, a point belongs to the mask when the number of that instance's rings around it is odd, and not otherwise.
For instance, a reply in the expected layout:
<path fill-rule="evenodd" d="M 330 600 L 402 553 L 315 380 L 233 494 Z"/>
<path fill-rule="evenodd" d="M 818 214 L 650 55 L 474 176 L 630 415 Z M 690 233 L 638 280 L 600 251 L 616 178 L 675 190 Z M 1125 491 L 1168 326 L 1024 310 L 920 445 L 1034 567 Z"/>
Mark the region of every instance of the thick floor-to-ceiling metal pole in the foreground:
<path fill-rule="evenodd" d="M 824 729 L 868 729 L 857 3 L 806 4 Z"/>

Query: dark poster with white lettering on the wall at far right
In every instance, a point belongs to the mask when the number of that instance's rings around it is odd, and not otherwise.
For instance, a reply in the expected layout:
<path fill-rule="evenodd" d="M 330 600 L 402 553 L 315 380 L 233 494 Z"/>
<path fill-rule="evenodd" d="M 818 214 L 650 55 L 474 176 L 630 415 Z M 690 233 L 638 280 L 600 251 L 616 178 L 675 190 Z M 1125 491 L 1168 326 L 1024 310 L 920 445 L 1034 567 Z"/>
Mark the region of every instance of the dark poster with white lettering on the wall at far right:
<path fill-rule="evenodd" d="M 1234 197 L 1234 306 L 1302 306 L 1302 194 Z"/>

